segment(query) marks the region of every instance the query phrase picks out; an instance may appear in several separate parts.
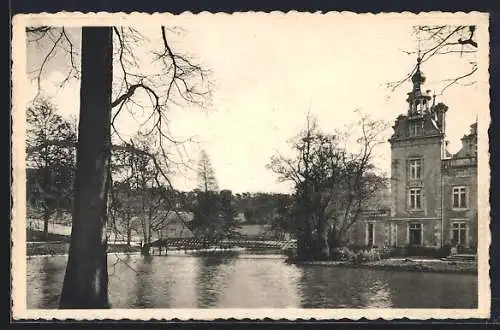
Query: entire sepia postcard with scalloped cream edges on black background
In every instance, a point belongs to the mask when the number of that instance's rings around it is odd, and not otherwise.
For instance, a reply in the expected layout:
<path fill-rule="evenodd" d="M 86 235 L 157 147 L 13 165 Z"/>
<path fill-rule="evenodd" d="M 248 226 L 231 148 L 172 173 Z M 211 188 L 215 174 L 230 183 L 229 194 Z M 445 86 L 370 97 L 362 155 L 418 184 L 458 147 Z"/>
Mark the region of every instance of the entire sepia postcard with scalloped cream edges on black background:
<path fill-rule="evenodd" d="M 14 318 L 486 318 L 488 15 L 13 18 Z"/>

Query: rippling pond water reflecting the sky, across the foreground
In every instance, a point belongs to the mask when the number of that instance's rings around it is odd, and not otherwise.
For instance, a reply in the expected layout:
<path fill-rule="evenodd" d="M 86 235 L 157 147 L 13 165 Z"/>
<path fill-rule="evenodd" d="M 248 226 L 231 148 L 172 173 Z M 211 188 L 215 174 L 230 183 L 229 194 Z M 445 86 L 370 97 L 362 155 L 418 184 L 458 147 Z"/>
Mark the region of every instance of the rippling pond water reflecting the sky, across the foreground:
<path fill-rule="evenodd" d="M 115 308 L 477 308 L 477 278 L 325 266 L 282 255 L 109 255 Z M 57 308 L 67 256 L 27 259 L 28 308 Z"/>

